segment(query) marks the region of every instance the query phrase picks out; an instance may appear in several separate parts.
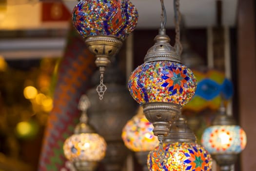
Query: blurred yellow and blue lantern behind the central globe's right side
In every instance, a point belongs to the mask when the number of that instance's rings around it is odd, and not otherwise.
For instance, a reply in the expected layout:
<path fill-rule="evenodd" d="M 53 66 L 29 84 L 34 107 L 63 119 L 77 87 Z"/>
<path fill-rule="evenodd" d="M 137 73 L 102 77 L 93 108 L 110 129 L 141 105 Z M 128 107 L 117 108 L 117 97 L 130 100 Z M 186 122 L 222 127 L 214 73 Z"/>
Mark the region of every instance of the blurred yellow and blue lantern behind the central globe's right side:
<path fill-rule="evenodd" d="M 222 98 L 228 101 L 232 97 L 233 85 L 225 78 L 224 73 L 217 70 L 207 70 L 206 72 L 194 70 L 193 72 L 197 78 L 197 89 L 192 100 L 183 107 L 184 110 L 194 112 L 200 112 L 207 108 L 217 110 Z"/>

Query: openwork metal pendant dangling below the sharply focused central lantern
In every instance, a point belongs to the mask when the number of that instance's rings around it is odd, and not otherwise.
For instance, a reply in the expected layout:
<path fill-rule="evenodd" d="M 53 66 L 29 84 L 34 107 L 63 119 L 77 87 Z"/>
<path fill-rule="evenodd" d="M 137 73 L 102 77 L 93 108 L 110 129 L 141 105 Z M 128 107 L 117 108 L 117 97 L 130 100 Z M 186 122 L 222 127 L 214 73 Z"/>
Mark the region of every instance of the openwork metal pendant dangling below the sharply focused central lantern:
<path fill-rule="evenodd" d="M 162 168 L 168 162 L 168 158 L 170 157 L 170 152 L 163 149 L 163 139 L 163 136 L 160 137 L 158 149 L 152 151 L 154 161 L 158 164 L 158 168 Z"/>

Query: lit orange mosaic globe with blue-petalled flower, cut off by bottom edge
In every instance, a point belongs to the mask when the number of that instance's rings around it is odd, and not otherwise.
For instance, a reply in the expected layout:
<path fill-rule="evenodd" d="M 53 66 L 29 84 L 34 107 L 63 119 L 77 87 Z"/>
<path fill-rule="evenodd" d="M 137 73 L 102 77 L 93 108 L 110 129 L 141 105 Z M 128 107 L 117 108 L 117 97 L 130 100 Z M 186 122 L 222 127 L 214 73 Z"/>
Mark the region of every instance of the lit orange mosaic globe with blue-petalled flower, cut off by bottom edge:
<path fill-rule="evenodd" d="M 150 151 L 147 160 L 149 171 L 211 171 L 211 155 L 196 143 L 169 143 L 164 144 L 163 149 L 170 152 L 166 164 L 161 163 L 159 168 L 159 159 L 154 159 L 156 152 Z"/>

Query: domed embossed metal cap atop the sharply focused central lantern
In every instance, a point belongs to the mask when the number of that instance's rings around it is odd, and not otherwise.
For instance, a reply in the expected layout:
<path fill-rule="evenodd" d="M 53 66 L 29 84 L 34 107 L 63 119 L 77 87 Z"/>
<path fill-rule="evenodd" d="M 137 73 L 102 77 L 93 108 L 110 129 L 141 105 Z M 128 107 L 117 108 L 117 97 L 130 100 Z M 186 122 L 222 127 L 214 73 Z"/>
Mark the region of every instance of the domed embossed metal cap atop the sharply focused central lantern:
<path fill-rule="evenodd" d="M 166 34 L 159 34 L 155 37 L 154 41 L 155 44 L 148 49 L 144 58 L 144 63 L 153 61 L 173 61 L 181 63 L 180 57 L 176 53 L 176 49 L 170 44 L 169 36 Z"/>

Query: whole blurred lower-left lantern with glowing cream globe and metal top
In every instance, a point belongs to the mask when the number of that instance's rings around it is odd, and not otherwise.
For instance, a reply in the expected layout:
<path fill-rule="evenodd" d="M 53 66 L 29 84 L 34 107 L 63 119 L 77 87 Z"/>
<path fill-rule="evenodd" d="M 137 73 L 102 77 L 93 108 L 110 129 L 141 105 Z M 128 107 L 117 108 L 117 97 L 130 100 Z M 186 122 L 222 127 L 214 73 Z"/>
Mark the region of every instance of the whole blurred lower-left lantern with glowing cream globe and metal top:
<path fill-rule="evenodd" d="M 65 157 L 78 171 L 94 171 L 107 148 L 104 138 L 87 125 L 86 110 L 89 106 L 88 98 L 82 95 L 79 102 L 79 109 L 82 110 L 80 123 L 75 128 L 75 134 L 67 138 L 63 145 Z"/>

